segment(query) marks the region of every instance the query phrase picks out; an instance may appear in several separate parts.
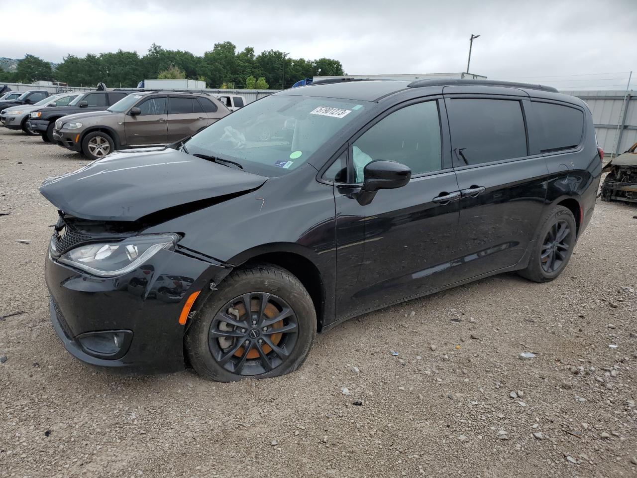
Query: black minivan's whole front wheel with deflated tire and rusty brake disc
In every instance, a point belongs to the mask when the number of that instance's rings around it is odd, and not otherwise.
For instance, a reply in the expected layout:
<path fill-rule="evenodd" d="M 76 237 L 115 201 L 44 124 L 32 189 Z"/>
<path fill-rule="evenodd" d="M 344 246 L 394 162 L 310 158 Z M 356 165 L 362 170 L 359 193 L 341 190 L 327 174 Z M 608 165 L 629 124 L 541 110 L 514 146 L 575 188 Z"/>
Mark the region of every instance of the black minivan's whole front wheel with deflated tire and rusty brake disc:
<path fill-rule="evenodd" d="M 245 314 L 245 297 L 250 317 Z M 278 317 L 283 319 L 272 322 Z M 264 324 L 269 326 L 265 331 Z M 208 296 L 186 331 L 185 351 L 205 379 L 233 382 L 278 377 L 303 364 L 316 326 L 314 304 L 303 284 L 283 268 L 257 264 L 234 271 Z M 285 331 L 275 333 L 280 328 Z"/>

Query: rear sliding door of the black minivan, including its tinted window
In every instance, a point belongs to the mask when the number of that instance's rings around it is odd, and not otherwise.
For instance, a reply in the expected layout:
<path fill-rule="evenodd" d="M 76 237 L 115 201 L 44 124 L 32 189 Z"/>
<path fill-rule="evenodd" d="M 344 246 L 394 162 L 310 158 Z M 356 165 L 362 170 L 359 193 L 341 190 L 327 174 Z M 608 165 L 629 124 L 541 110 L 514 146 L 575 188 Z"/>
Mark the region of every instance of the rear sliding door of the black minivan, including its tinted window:
<path fill-rule="evenodd" d="M 446 98 L 462 198 L 454 282 L 513 266 L 533 240 L 547 194 L 547 166 L 529 150 L 526 97 Z"/>

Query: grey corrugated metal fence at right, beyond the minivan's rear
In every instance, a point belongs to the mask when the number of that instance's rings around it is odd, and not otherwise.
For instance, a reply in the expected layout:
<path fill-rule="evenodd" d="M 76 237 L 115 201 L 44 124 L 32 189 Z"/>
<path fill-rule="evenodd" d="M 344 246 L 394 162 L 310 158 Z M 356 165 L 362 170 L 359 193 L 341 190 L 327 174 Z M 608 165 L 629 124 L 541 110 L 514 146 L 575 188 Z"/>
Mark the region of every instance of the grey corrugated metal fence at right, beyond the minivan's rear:
<path fill-rule="evenodd" d="M 605 156 L 622 154 L 637 143 L 637 98 L 632 90 L 562 91 L 589 105 L 599 146 Z"/>

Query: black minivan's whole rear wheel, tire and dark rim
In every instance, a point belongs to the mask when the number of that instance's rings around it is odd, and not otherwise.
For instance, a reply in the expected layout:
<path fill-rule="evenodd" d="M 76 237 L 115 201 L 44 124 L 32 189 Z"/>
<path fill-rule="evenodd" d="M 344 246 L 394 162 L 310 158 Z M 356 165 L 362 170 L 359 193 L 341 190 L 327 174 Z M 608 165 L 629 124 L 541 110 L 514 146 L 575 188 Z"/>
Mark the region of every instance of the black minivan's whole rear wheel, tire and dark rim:
<path fill-rule="evenodd" d="M 564 206 L 555 206 L 543 217 L 535 240 L 529 265 L 518 273 L 533 282 L 550 282 L 562 273 L 573 254 L 577 240 L 577 225 L 573 213 Z"/>

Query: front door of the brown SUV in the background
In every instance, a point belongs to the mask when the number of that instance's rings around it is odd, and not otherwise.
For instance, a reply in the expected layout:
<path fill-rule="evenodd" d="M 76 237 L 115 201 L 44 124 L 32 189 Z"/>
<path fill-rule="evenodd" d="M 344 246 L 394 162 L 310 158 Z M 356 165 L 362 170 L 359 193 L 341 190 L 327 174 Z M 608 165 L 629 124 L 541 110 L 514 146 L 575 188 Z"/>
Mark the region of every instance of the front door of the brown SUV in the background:
<path fill-rule="evenodd" d="M 124 130 L 126 143 L 136 145 L 161 145 L 168 143 L 166 121 L 166 97 L 148 98 L 137 105 L 139 115 L 126 115 Z"/>

